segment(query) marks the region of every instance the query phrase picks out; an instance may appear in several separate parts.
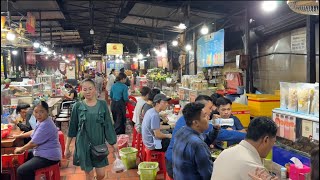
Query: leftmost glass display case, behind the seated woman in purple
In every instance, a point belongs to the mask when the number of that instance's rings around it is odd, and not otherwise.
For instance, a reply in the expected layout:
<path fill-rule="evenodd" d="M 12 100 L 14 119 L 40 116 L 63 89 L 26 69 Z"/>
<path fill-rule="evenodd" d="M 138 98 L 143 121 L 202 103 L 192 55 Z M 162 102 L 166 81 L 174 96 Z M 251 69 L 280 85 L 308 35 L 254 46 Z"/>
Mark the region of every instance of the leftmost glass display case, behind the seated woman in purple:
<path fill-rule="evenodd" d="M 15 84 L 9 86 L 11 105 L 19 103 L 32 104 L 36 97 L 43 96 L 43 84 Z"/>

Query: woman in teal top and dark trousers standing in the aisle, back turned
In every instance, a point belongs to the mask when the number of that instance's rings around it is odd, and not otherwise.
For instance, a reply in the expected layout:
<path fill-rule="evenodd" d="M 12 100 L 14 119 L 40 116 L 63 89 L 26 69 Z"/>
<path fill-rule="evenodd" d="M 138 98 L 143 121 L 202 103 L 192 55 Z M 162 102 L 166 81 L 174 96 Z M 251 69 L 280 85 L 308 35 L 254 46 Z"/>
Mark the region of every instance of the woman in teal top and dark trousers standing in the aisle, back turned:
<path fill-rule="evenodd" d="M 126 133 L 126 102 L 129 101 L 128 86 L 125 85 L 127 75 L 119 73 L 116 83 L 110 92 L 111 112 L 116 134 Z"/>

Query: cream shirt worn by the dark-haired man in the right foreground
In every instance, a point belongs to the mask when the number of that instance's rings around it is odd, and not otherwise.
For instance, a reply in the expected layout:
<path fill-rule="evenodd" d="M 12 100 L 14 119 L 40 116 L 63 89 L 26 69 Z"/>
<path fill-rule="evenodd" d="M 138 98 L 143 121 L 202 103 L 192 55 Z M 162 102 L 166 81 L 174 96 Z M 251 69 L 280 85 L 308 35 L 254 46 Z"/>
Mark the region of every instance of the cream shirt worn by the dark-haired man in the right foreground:
<path fill-rule="evenodd" d="M 248 173 L 264 168 L 258 151 L 242 140 L 238 145 L 221 152 L 213 163 L 211 180 L 249 180 Z"/>

